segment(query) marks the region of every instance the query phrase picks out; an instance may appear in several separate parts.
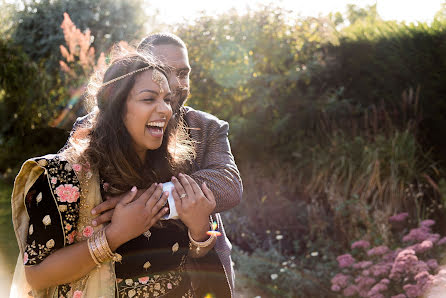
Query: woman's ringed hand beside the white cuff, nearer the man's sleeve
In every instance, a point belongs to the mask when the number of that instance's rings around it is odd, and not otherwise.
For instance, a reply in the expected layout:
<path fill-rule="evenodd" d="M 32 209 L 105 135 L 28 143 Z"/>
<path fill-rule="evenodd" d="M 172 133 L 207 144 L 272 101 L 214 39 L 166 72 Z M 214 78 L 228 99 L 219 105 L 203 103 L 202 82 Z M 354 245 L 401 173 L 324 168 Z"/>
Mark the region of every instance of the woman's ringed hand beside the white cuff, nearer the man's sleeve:
<path fill-rule="evenodd" d="M 209 215 L 215 209 L 215 197 L 206 183 L 202 188 L 188 175 L 179 174 L 179 179 L 172 177 L 175 188 L 172 196 L 178 216 L 189 228 L 192 238 L 203 241 L 208 238 Z"/>

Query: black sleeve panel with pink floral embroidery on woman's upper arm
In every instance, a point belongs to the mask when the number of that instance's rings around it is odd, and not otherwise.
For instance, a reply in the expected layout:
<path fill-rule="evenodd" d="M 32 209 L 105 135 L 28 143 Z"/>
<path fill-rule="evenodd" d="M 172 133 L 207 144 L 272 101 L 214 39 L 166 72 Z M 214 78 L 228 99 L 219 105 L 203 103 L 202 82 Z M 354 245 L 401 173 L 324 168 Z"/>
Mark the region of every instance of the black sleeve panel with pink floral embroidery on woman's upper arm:
<path fill-rule="evenodd" d="M 42 216 L 40 220 L 33 218 L 35 224 L 30 225 L 28 243 L 24 253 L 25 265 L 38 264 L 55 250 L 73 244 L 79 219 L 80 186 L 71 165 L 67 161 L 61 160 L 57 155 L 39 157 L 34 161 L 45 170 L 42 177 L 37 181 L 39 185 L 36 185 L 36 182 L 35 186 L 45 187 L 45 190 L 36 191 L 33 186 L 25 197 L 28 213 L 34 212 L 34 217 Z M 44 181 L 44 179 L 47 181 Z M 48 207 L 51 211 L 41 210 Z M 53 236 L 54 239 L 48 240 L 42 237 L 42 239 L 37 240 L 37 235 L 30 238 L 31 235 L 36 234 L 34 233 L 36 224 L 40 226 L 43 224 L 45 229 L 41 230 L 40 236 L 48 234 L 50 237 Z M 60 297 L 66 297 L 71 288 L 69 285 L 60 285 L 58 290 Z"/>

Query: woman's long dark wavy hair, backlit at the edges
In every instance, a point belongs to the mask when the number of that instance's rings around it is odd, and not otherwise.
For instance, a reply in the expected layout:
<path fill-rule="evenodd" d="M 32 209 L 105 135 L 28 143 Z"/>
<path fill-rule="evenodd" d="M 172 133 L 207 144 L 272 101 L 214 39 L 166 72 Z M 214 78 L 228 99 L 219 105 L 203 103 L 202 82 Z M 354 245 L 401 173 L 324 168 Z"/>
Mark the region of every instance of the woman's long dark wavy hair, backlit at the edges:
<path fill-rule="evenodd" d="M 195 152 L 184 125 L 172 119 L 160 148 L 148 150 L 144 162 L 139 159 L 123 118 L 127 96 L 142 72 L 103 84 L 147 66 L 162 73 L 165 68 L 153 56 L 134 50 L 118 48 L 114 56 L 103 76 L 92 77 L 86 96 L 92 112 L 72 134 L 63 154 L 70 160 L 88 163 L 110 185 L 110 194 L 120 194 L 132 186 L 147 188 L 154 182 L 169 181 L 179 172 L 188 172 Z"/>

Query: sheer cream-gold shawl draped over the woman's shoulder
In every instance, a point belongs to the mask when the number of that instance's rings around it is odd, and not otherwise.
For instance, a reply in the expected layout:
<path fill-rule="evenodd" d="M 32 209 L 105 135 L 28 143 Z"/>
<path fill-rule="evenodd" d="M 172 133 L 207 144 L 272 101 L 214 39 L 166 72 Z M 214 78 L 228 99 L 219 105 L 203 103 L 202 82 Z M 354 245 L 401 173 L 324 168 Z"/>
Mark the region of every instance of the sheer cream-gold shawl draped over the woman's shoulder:
<path fill-rule="evenodd" d="M 54 155 L 53 155 L 54 157 Z M 34 159 L 27 160 L 17 175 L 14 182 L 12 193 L 12 220 L 14 231 L 17 237 L 20 253 L 14 272 L 14 278 L 11 285 L 10 297 L 30 297 L 32 291 L 34 297 L 56 297 L 57 286 L 44 290 L 32 290 L 25 277 L 25 266 L 23 265 L 23 254 L 26 246 L 26 238 L 29 227 L 29 216 L 25 207 L 25 196 L 37 178 L 46 173 L 51 178 L 51 173 L 45 169 L 46 157 L 38 161 Z M 51 158 L 51 157 L 49 157 Z M 58 156 L 60 158 L 60 156 Z M 75 164 L 71 164 L 70 169 Z M 79 165 L 77 165 L 79 166 Z M 85 168 L 85 170 L 84 170 Z M 80 182 L 80 211 L 75 242 L 85 241 L 82 236 L 82 230 L 91 222 L 91 209 L 101 203 L 101 194 L 99 186 L 99 176 L 93 173 L 88 167 L 83 167 L 80 171 L 75 171 Z M 54 194 L 53 194 L 54 196 Z M 102 227 L 96 227 L 99 230 Z M 87 276 L 70 283 L 71 290 L 68 297 L 114 297 L 116 277 L 114 264 L 108 262 L 96 267 Z"/>

